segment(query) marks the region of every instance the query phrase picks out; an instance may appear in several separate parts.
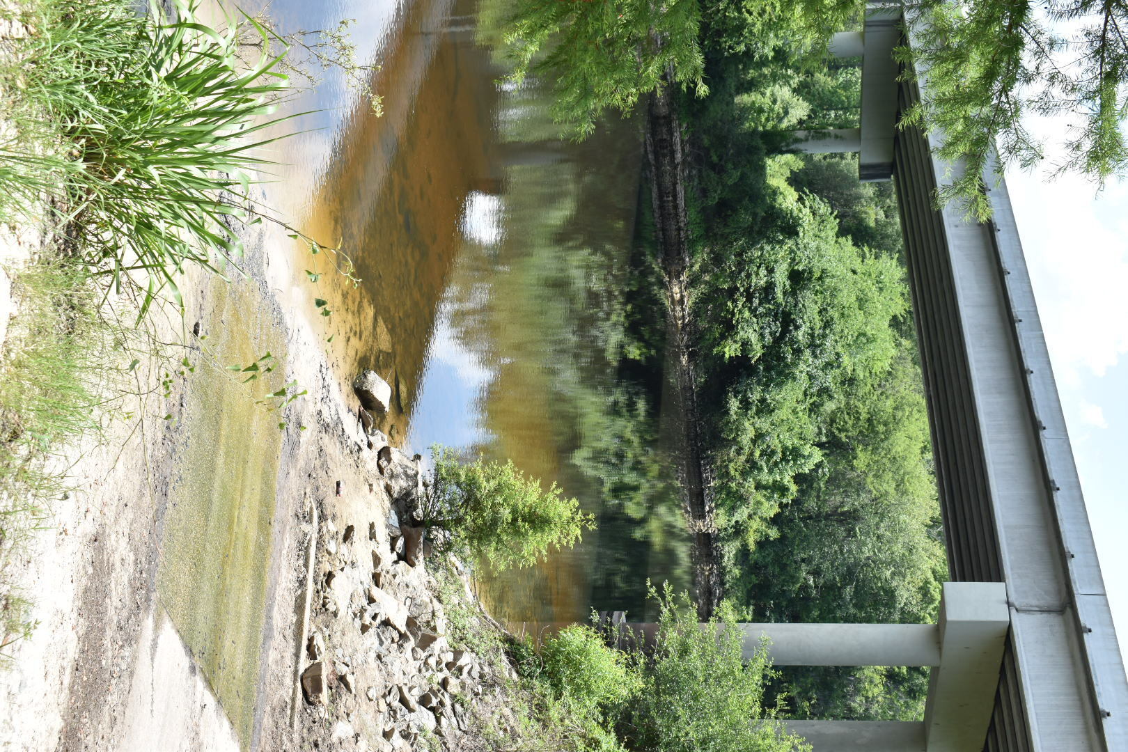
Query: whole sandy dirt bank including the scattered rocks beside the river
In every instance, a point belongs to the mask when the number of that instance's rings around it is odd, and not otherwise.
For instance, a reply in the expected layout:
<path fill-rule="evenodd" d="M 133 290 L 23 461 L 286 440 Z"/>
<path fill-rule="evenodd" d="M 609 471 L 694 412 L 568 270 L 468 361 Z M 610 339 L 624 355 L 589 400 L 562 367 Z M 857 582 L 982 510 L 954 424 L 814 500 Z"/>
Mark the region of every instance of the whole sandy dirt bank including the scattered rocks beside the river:
<path fill-rule="evenodd" d="M 70 490 L 10 565 L 38 625 L 0 672 L 0 749 L 473 749 L 481 719 L 504 717 L 482 689 L 497 671 L 453 655 L 430 575 L 396 561 L 387 521 L 402 489 L 310 324 L 308 251 L 268 225 L 240 233 L 246 276 L 190 274 L 183 319 L 162 312 L 136 345 L 159 352 L 130 372 L 139 393 L 118 392 L 105 434 L 58 458 Z M 226 368 L 267 351 L 274 371 L 258 381 Z M 306 393 L 274 409 L 265 396 L 288 383 Z M 368 548 L 341 538 L 349 524 Z M 373 568 L 380 547 L 387 566 Z M 329 570 L 333 593 L 355 585 L 344 601 L 324 600 Z M 358 609 L 374 619 L 371 586 L 411 629 L 354 629 Z M 328 701 L 303 698 L 315 632 L 355 692 L 332 673 Z"/>

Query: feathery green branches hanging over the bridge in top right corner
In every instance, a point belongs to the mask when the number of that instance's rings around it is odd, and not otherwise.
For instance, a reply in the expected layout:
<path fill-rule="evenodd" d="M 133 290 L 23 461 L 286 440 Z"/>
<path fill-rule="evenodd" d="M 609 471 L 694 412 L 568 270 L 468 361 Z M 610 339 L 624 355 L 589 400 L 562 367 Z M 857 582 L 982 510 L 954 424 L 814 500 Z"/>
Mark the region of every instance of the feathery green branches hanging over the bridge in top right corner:
<path fill-rule="evenodd" d="M 940 156 L 964 161 L 941 189 L 942 202 L 954 198 L 973 216 L 989 216 L 984 176 L 1043 157 L 1023 123 L 1031 114 L 1079 118 L 1055 144 L 1064 154 L 1058 170 L 1103 183 L 1128 167 L 1128 7 L 1050 3 L 1043 11 L 1029 0 L 929 0 L 918 12 L 919 39 L 900 54 L 926 71 L 928 86 L 904 122 L 942 130 Z M 996 147 L 1001 163 L 993 165 Z"/>

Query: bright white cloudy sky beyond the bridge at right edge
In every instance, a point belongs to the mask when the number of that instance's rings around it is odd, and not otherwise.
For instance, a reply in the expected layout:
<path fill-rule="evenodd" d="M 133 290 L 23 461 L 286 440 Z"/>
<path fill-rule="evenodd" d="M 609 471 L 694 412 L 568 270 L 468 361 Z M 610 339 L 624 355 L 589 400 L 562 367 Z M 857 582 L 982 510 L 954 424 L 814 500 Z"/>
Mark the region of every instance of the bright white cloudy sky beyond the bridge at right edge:
<path fill-rule="evenodd" d="M 1028 125 L 1050 143 L 1064 133 Z M 1128 183 L 1098 192 L 1077 175 L 1015 169 L 1006 184 L 1128 663 Z"/>

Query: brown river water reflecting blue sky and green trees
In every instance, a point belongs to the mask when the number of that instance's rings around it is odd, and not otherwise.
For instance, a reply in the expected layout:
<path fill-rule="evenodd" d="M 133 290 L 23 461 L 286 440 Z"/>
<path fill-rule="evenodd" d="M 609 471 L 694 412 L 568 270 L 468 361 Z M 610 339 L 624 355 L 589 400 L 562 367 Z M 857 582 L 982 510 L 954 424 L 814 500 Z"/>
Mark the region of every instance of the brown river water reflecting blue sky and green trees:
<path fill-rule="evenodd" d="M 321 87 L 326 130 L 302 136 L 274 191 L 303 228 L 354 256 L 363 282 L 324 276 L 317 294 L 335 315 L 318 324 L 338 373 L 372 368 L 393 384 L 385 428 L 416 450 L 511 458 L 598 514 L 576 549 L 481 577 L 497 616 L 637 613 L 647 577 L 685 586 L 689 575 L 661 368 L 640 377 L 624 356 L 640 316 L 641 133 L 615 121 L 581 144 L 561 141 L 543 89 L 499 83 L 497 29 L 479 20 L 494 10 L 276 6 L 307 28 L 355 16 L 371 29 L 386 115 L 340 81 Z"/>

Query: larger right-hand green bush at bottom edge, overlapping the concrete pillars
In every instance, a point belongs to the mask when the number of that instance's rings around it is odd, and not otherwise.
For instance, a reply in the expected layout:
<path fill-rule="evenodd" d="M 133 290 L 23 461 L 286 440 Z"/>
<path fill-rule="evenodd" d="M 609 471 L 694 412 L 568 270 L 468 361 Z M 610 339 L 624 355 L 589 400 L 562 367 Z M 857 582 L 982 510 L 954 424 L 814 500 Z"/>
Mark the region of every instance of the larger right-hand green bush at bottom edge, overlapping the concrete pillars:
<path fill-rule="evenodd" d="M 655 594 L 656 595 L 656 594 Z M 743 660 L 737 612 L 724 604 L 702 626 L 688 598 L 661 598 L 656 646 L 646 660 L 643 689 L 620 728 L 635 750 L 653 752 L 784 752 L 810 750 L 764 707 L 770 674 L 765 651 Z"/>

